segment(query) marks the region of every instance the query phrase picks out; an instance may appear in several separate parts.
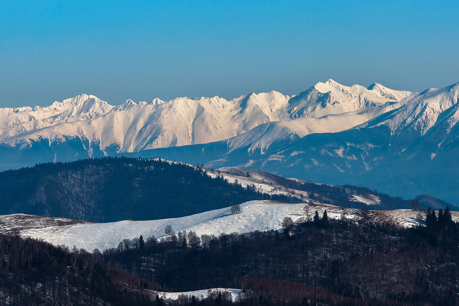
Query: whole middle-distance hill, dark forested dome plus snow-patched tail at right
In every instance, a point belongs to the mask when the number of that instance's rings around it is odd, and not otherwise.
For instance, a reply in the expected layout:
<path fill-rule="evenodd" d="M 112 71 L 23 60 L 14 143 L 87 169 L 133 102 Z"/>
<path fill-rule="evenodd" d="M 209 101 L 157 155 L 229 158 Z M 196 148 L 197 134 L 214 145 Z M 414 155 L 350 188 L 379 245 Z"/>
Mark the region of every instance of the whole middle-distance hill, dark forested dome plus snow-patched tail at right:
<path fill-rule="evenodd" d="M 409 200 L 364 187 L 315 184 L 252 169 L 208 169 L 125 157 L 1 172 L 0 194 L 0 214 L 90 222 L 183 217 L 265 199 L 371 209 L 410 207 Z"/>

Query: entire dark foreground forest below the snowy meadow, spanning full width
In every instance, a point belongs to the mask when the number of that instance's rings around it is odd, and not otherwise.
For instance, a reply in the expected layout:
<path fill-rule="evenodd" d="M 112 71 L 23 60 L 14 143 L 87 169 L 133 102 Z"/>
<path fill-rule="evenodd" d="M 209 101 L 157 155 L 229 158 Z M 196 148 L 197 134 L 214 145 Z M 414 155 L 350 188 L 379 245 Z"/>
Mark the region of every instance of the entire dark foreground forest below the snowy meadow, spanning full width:
<path fill-rule="evenodd" d="M 125 240 L 101 253 L 0 235 L 0 305 L 454 306 L 459 223 L 426 211 L 426 225 L 370 219 L 291 223 L 284 231 Z M 154 291 L 241 288 L 229 298 Z"/>

